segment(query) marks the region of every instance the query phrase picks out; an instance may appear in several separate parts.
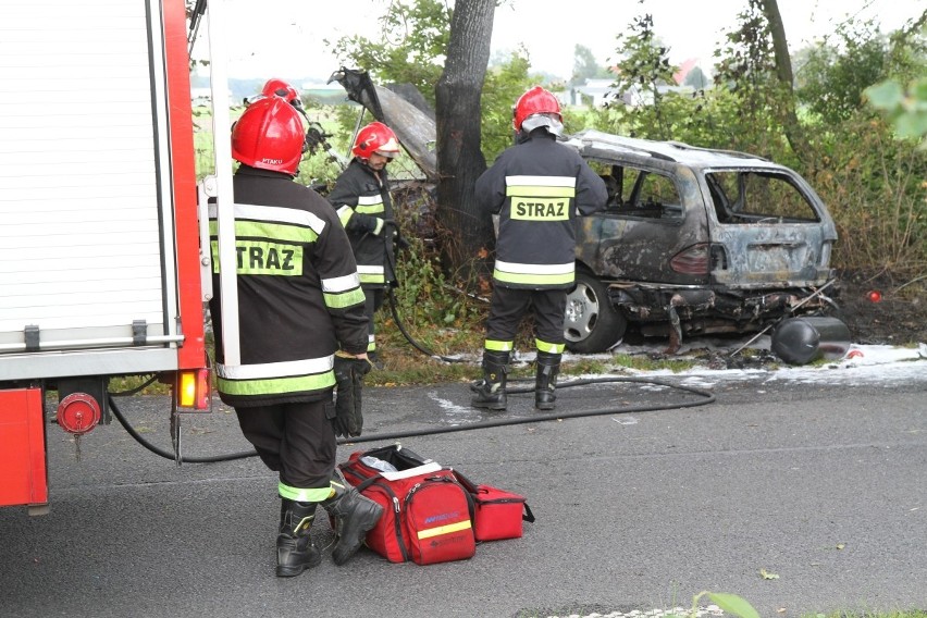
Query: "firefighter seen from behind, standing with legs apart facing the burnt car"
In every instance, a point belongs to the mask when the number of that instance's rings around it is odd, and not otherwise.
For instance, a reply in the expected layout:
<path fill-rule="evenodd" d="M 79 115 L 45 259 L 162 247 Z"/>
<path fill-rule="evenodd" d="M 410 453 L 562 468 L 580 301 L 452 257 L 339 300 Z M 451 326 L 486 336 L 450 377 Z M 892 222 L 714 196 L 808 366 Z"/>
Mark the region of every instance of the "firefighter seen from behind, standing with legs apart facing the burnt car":
<path fill-rule="evenodd" d="M 477 180 L 478 209 L 498 214 L 493 295 L 486 322 L 478 408 L 506 408 L 506 374 L 519 322 L 532 310 L 537 348 L 534 407 L 554 408 L 564 311 L 574 281 L 577 213 L 605 207 L 605 183 L 576 150 L 557 143 L 560 104 L 535 86 L 515 104 L 516 144 Z"/>

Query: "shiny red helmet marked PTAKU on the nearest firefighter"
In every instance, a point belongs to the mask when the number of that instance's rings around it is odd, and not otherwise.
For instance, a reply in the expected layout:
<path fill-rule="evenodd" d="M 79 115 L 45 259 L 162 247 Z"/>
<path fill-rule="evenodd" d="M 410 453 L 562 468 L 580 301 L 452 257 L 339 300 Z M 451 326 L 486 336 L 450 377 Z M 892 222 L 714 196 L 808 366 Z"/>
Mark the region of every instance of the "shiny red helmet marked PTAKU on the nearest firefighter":
<path fill-rule="evenodd" d="M 232 157 L 261 170 L 296 175 L 304 144 L 299 113 L 277 97 L 258 99 L 232 127 Z"/>

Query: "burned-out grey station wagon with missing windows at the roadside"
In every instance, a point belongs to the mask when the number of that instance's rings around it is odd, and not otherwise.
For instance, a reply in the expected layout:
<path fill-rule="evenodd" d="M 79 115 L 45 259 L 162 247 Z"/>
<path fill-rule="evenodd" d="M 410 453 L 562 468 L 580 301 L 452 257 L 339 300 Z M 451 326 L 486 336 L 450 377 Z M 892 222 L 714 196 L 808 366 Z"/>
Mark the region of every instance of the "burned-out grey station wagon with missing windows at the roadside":
<path fill-rule="evenodd" d="M 766 159 L 583 131 L 568 141 L 609 187 L 577 220 L 567 348 L 608 349 L 633 325 L 668 336 L 750 333 L 828 307 L 833 221 L 794 171 Z"/>

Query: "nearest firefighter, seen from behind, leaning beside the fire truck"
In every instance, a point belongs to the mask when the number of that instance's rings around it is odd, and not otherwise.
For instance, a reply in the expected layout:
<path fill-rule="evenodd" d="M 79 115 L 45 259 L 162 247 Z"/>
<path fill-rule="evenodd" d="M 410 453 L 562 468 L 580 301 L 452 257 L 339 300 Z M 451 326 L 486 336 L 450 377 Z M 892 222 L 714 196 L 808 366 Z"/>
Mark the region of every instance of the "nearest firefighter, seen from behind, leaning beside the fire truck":
<path fill-rule="evenodd" d="M 279 97 L 254 101 L 232 132 L 240 364 L 226 366 L 217 337 L 217 388 L 245 437 L 279 472 L 276 574 L 313 567 L 310 528 L 318 505 L 334 521 L 332 558 L 350 558 L 382 507 L 346 485 L 335 468 L 339 419 L 333 356 L 367 355 L 367 317 L 344 228 L 319 194 L 293 182 L 304 151 L 302 121 Z M 218 251 L 217 209 L 210 210 Z M 222 333 L 219 265 L 210 300 Z"/>

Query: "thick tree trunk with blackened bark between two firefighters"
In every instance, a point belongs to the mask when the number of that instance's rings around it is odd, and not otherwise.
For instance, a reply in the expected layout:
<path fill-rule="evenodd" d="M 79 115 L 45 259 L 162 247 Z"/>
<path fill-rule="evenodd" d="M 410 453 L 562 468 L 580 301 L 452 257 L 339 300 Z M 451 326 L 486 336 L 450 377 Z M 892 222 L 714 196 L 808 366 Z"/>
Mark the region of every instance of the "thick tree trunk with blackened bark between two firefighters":
<path fill-rule="evenodd" d="M 435 86 L 437 206 L 443 257 L 453 272 L 485 256 L 492 221 L 477 215 L 473 185 L 486 169 L 480 148 L 480 97 L 490 62 L 495 0 L 457 0 L 444 73 Z M 482 268 L 481 265 L 478 268 Z"/>

